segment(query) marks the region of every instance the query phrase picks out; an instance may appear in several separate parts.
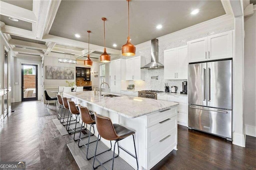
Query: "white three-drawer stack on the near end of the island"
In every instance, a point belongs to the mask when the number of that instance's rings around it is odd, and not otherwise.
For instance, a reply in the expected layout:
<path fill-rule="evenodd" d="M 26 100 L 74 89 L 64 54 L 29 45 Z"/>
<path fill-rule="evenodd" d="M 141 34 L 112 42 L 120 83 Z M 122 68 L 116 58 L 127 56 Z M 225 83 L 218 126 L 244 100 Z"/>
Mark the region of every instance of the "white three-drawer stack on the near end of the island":
<path fill-rule="evenodd" d="M 177 107 L 147 116 L 146 125 L 146 169 L 150 169 L 176 148 Z"/>

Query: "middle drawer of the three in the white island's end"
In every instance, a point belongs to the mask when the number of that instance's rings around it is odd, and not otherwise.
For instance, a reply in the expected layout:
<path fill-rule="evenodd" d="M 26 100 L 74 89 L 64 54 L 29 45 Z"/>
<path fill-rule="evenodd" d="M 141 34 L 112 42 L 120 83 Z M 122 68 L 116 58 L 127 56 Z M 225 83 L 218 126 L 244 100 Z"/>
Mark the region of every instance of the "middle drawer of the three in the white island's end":
<path fill-rule="evenodd" d="M 168 118 L 163 123 L 146 128 L 146 148 L 150 148 L 154 144 L 160 142 L 172 132 L 177 131 L 177 115 Z"/>

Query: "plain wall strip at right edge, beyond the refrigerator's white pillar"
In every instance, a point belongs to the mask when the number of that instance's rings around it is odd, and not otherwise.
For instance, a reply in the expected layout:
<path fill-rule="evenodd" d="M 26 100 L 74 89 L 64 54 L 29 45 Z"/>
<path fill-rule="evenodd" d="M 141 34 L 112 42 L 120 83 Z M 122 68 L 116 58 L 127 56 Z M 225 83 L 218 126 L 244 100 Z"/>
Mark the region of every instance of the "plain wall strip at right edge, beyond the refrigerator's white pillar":
<path fill-rule="evenodd" d="M 256 12 L 244 18 L 244 124 L 256 137 Z"/>

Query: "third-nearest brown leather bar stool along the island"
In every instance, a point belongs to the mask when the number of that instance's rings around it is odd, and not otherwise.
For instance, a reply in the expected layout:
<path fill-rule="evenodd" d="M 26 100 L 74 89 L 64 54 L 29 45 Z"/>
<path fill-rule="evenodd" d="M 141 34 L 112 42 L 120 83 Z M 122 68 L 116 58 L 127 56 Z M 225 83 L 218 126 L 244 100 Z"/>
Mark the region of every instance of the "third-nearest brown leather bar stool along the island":
<path fill-rule="evenodd" d="M 84 124 L 84 126 L 83 126 L 83 122 L 82 122 L 81 127 L 77 127 L 77 123 L 79 123 L 79 121 L 80 121 L 80 117 L 79 117 L 80 112 L 78 111 L 78 109 L 77 109 L 76 104 L 74 103 L 74 101 L 68 100 L 68 107 L 69 107 L 70 113 L 73 114 L 73 115 L 76 115 L 76 125 L 75 125 L 75 128 L 70 127 L 70 122 L 69 122 L 69 125 L 68 125 L 68 133 L 69 133 L 69 134 L 74 133 L 74 141 L 77 141 L 79 138 L 78 138 L 78 139 L 75 139 L 75 136 L 76 136 L 75 133 L 79 132 L 79 129 L 80 129 L 80 132 L 81 132 L 81 130 L 82 130 L 82 128 L 85 126 L 85 124 Z M 77 121 L 78 119 L 79 119 L 79 121 Z"/>

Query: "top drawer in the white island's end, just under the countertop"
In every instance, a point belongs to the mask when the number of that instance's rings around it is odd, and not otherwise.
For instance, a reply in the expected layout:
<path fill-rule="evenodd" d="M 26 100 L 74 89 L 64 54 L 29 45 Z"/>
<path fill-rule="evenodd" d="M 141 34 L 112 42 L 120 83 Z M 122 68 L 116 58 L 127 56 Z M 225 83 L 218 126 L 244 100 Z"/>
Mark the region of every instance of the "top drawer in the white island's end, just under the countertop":
<path fill-rule="evenodd" d="M 151 127 L 158 123 L 162 123 L 163 121 L 166 121 L 167 119 L 175 115 L 177 115 L 177 107 L 172 107 L 172 108 L 165 109 L 157 113 L 148 115 L 146 116 L 146 127 Z"/>

